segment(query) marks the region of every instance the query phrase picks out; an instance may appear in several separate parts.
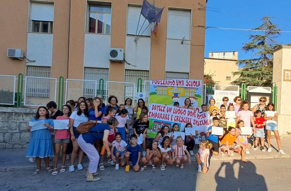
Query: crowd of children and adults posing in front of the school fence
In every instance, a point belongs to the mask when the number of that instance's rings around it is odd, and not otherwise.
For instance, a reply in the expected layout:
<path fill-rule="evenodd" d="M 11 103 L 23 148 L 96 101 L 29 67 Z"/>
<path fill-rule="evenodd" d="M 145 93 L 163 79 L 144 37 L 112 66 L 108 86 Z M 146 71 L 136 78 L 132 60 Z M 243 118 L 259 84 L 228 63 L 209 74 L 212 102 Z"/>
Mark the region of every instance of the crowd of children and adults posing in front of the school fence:
<path fill-rule="evenodd" d="M 194 156 L 195 135 L 175 137 L 174 131 L 179 131 L 179 125 L 174 123 L 172 127 L 163 125 L 156 138 L 146 138 L 149 128 L 148 107 L 143 99 L 139 99 L 136 106 L 132 107 L 132 99 L 127 98 L 124 104 L 118 105 L 116 96 L 108 98 L 108 104 L 102 102 L 102 96 L 95 98 L 80 97 L 79 100 L 69 100 L 57 109 L 57 104 L 51 101 L 46 107 L 38 108 L 32 122 L 43 121 L 47 127 L 31 131 L 31 140 L 27 149 L 26 157 L 33 162 L 35 158 L 37 169 L 33 176 L 41 170 L 41 159 L 44 159 L 46 170 L 52 175 L 67 170 L 65 162 L 70 160 L 69 172 L 75 171 L 75 159 L 78 158 L 77 169 L 83 170 L 82 159 L 89 159 L 89 166 L 85 169 L 86 181 L 98 181 L 101 179 L 97 172 L 105 170 L 104 158 L 115 169 L 125 166 L 125 172 L 133 167 L 135 172 L 146 170 L 150 165 L 156 170 L 166 170 L 166 165 L 175 164 L 180 169 L 185 163 L 191 164 L 190 156 Z M 218 155 L 219 149 L 222 156 L 234 156 L 234 152 L 241 155 L 241 161 L 249 163 L 245 154 L 250 154 L 248 149 L 249 138 L 253 141 L 251 149 L 260 148 L 265 152 L 264 143 L 267 140 L 267 152 L 272 152 L 270 145 L 271 131 L 274 132 L 280 154 L 285 154 L 281 149 L 278 136 L 277 116 L 273 103 L 265 104 L 267 99 L 260 98 L 260 103 L 249 110 L 250 104 L 237 96 L 235 104 L 228 104 L 228 98 L 223 98 L 220 109 L 215 106 L 215 100 L 209 100 L 209 106 L 202 104 L 201 112 L 210 113 L 210 127 L 207 129 L 205 140 L 198 146 L 195 155 L 198 172 L 206 173 L 209 167 L 209 156 Z M 189 100 L 185 100 L 183 108 L 196 110 Z M 174 107 L 179 107 L 174 102 Z M 192 107 L 192 108 L 191 108 Z M 49 111 L 51 112 L 49 114 Z M 235 111 L 234 118 L 226 118 L 226 111 Z M 69 120 L 68 129 L 54 129 L 54 120 Z M 78 127 L 88 121 L 95 125 L 81 134 Z M 191 123 L 185 127 L 192 128 Z M 212 127 L 222 127 L 223 135 L 212 135 Z M 242 127 L 252 127 L 253 135 L 241 135 Z M 31 130 L 32 126 L 27 126 Z M 148 140 L 148 141 L 147 141 Z M 58 167 L 60 153 L 62 152 L 62 166 Z M 101 159 L 100 156 L 101 155 Z M 78 155 L 78 157 L 77 157 Z M 54 167 L 49 166 L 50 157 L 54 156 Z"/>

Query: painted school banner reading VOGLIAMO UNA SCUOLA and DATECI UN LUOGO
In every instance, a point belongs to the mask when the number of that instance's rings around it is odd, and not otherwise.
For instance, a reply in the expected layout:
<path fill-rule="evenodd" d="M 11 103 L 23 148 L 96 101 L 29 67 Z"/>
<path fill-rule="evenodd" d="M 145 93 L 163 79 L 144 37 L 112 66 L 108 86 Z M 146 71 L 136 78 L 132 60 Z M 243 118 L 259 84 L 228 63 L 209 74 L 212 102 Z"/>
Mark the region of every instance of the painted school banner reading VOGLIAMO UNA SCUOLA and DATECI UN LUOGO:
<path fill-rule="evenodd" d="M 202 80 L 154 80 L 150 82 L 149 121 L 147 136 L 155 138 L 163 125 L 172 130 L 173 124 L 183 131 L 186 123 L 191 123 L 196 131 L 195 142 L 205 138 L 209 127 L 209 113 L 199 113 L 201 107 Z M 183 108 L 185 99 L 196 109 Z M 179 102 L 179 107 L 174 107 Z M 182 107 L 182 108 L 181 108 Z"/>

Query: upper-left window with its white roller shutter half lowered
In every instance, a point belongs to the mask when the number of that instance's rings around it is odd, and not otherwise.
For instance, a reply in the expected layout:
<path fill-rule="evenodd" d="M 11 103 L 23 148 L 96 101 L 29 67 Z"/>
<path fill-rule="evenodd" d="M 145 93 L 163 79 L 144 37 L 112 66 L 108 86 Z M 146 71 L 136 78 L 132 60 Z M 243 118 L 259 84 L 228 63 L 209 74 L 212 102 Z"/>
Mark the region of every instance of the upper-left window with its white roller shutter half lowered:
<path fill-rule="evenodd" d="M 31 3 L 31 32 L 53 33 L 54 4 Z"/>

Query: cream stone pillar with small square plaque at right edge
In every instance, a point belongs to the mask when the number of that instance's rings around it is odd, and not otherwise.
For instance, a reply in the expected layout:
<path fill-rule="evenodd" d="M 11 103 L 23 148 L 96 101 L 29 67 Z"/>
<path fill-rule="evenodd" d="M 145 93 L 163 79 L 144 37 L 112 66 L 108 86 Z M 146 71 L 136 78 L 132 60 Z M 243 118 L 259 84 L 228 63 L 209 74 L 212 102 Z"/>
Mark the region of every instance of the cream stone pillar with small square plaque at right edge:
<path fill-rule="evenodd" d="M 281 135 L 291 132 L 291 46 L 280 46 L 273 53 L 273 83 L 278 86 L 276 111 L 279 114 L 278 131 Z"/>

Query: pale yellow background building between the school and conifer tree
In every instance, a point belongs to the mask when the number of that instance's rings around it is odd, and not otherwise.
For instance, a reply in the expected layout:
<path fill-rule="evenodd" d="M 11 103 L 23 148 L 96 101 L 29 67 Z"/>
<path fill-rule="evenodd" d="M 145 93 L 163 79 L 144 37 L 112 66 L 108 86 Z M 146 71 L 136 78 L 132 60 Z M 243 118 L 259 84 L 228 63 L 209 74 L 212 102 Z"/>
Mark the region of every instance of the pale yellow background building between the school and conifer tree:
<path fill-rule="evenodd" d="M 232 75 L 232 72 L 239 71 L 236 64 L 237 58 L 237 51 L 210 52 L 209 58 L 204 59 L 204 73 L 212 74 L 213 80 L 217 81 L 217 84 L 230 85 L 230 82 L 239 77 Z"/>

